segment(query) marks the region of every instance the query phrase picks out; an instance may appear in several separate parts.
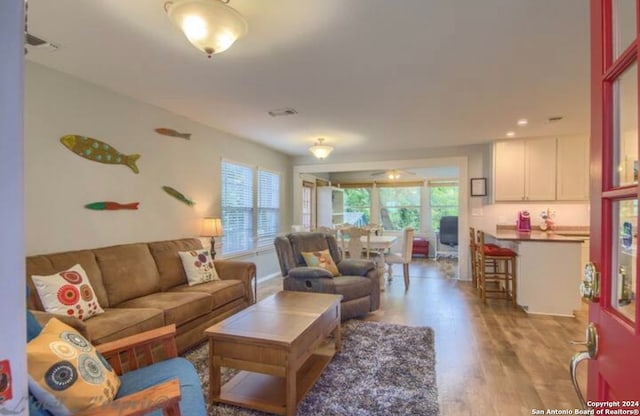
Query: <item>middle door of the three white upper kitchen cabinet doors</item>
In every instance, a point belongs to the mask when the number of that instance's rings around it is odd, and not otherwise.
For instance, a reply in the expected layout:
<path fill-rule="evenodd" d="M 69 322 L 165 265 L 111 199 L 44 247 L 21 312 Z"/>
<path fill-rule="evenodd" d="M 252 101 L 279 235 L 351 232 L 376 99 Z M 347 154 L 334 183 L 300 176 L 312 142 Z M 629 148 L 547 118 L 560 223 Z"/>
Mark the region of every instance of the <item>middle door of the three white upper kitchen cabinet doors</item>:
<path fill-rule="evenodd" d="M 556 199 L 556 138 L 525 140 L 524 199 Z"/>

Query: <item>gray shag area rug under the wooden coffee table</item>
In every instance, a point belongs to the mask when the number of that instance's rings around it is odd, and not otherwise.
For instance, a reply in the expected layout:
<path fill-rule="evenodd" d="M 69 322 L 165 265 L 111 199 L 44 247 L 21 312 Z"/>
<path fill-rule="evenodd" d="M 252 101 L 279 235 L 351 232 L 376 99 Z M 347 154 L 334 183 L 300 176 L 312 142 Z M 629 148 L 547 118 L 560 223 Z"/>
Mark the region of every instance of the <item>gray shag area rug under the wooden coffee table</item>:
<path fill-rule="evenodd" d="M 324 370 L 298 406 L 298 416 L 437 416 L 433 329 L 351 320 L 342 325 L 342 351 Z M 188 351 L 205 400 L 209 395 L 209 345 Z M 222 369 L 222 382 L 235 374 Z M 209 406 L 210 416 L 265 413 L 224 404 Z"/>

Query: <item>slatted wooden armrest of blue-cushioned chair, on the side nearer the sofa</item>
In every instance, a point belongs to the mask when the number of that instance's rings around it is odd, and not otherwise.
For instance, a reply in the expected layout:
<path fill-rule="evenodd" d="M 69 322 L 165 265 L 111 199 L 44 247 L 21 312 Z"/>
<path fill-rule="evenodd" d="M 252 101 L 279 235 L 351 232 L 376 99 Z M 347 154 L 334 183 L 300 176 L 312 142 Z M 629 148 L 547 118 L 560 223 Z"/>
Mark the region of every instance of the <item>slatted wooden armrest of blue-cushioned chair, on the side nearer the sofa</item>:
<path fill-rule="evenodd" d="M 96 345 L 118 375 L 178 356 L 175 324 Z"/>

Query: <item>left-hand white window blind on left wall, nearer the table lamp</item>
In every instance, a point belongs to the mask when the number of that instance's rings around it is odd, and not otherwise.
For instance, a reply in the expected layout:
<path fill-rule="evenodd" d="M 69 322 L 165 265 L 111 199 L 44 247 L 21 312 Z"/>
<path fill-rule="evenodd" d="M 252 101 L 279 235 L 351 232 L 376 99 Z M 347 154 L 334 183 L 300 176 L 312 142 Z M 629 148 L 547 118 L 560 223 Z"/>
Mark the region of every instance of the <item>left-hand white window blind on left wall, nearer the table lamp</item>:
<path fill-rule="evenodd" d="M 222 253 L 253 248 L 253 169 L 222 162 Z"/>

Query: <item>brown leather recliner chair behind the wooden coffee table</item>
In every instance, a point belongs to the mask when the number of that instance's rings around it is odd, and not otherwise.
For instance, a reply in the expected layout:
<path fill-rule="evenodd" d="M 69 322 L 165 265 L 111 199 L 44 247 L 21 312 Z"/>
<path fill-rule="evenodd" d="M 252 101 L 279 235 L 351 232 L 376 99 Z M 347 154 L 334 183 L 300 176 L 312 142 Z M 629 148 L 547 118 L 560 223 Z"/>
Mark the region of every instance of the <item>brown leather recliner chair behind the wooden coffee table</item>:
<path fill-rule="evenodd" d="M 380 277 L 370 260 L 343 259 L 335 237 L 323 233 L 291 233 L 274 241 L 284 290 L 342 295 L 342 319 L 366 315 L 380 307 Z M 307 267 L 302 252 L 329 249 L 340 276 Z"/>

